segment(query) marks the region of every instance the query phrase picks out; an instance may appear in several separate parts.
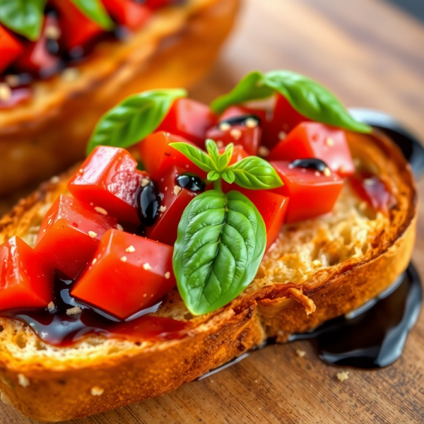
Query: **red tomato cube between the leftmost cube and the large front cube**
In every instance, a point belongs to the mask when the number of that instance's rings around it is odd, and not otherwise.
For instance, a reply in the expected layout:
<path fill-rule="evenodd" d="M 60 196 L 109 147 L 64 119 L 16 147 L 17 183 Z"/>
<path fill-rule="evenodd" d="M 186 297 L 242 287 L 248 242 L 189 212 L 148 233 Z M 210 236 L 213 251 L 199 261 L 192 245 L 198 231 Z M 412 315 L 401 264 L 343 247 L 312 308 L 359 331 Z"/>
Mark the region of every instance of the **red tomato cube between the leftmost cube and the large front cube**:
<path fill-rule="evenodd" d="M 76 278 L 92 259 L 102 235 L 117 227 L 116 218 L 101 212 L 62 194 L 42 220 L 35 252 L 69 278 Z"/>

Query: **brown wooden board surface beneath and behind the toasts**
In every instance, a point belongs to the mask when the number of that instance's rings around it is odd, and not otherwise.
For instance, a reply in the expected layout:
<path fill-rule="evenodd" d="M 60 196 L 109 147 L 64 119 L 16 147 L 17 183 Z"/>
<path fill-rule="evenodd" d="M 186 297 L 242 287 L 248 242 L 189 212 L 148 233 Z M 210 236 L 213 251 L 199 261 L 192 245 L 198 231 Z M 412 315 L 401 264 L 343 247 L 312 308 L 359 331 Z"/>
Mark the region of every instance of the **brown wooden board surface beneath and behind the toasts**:
<path fill-rule="evenodd" d="M 278 68 L 306 73 L 348 106 L 390 112 L 424 140 L 424 26 L 389 3 L 246 0 L 235 33 L 192 96 L 209 101 L 252 69 Z M 423 196 L 424 181 L 418 186 Z M 413 258 L 424 277 L 423 208 Z M 321 363 L 307 342 L 271 346 L 159 399 L 68 424 L 423 423 L 424 315 L 394 365 L 348 370 L 344 382 L 340 371 Z M 1 405 L 0 423 L 35 422 Z"/>

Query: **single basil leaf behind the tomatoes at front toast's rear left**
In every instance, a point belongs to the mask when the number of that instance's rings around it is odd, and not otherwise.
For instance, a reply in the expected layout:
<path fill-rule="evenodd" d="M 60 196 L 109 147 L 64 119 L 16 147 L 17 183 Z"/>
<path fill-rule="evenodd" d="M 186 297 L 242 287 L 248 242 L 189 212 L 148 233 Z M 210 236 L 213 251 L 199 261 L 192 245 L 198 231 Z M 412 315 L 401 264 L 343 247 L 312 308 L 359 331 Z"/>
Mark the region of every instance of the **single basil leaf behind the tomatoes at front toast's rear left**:
<path fill-rule="evenodd" d="M 175 99 L 186 90 L 151 90 L 131 95 L 106 112 L 88 141 L 87 154 L 96 146 L 128 148 L 158 128 Z"/>

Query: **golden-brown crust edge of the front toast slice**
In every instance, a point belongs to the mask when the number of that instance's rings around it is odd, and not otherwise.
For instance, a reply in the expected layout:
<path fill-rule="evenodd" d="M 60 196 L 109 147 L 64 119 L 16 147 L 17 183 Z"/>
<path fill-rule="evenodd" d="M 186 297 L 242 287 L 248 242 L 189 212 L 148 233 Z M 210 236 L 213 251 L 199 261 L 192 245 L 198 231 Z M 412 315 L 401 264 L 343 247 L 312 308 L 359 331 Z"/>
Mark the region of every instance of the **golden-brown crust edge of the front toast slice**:
<path fill-rule="evenodd" d="M 286 341 L 290 334 L 350 312 L 389 287 L 406 269 L 415 240 L 417 201 L 411 169 L 382 134 L 348 134 L 348 140 L 353 155 L 391 184 L 396 199 L 389 225 L 372 236 L 366 254 L 320 269 L 302 283 L 271 282 L 262 269 L 230 305 L 193 319 L 194 329 L 179 341 L 146 343 L 117 353 L 100 351 L 75 360 L 48 356 L 17 360 L 1 341 L 0 388 L 5 399 L 31 418 L 52 422 L 150 399 L 228 362 L 267 337 Z M 49 182 L 20 201 L 0 221 L 0 242 L 27 234 L 43 202 L 49 204 L 65 191 L 67 178 Z M 264 259 L 266 268 L 270 260 Z M 4 331 L 9 331 L 10 322 L 1 319 Z M 28 386 L 19 384 L 18 374 L 28 379 Z M 93 387 L 102 389 L 102 395 L 93 396 Z"/>

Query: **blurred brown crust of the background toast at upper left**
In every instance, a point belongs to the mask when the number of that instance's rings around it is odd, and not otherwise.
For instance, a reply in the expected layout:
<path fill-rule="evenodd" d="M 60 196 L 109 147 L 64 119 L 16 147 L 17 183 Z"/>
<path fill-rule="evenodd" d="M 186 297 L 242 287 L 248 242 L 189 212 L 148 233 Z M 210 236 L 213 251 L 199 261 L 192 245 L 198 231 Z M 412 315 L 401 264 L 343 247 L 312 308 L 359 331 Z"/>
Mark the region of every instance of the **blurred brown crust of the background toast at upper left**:
<path fill-rule="evenodd" d="M 206 73 L 240 0 L 188 0 L 155 12 L 126 42 L 100 43 L 75 69 L 33 85 L 30 102 L 0 114 L 0 195 L 37 184 L 82 160 L 107 110 L 152 88 L 186 87 Z M 69 75 L 69 74 L 68 74 Z"/>

